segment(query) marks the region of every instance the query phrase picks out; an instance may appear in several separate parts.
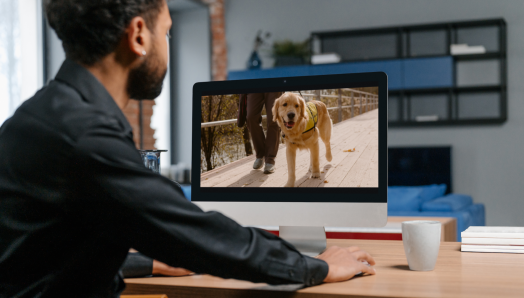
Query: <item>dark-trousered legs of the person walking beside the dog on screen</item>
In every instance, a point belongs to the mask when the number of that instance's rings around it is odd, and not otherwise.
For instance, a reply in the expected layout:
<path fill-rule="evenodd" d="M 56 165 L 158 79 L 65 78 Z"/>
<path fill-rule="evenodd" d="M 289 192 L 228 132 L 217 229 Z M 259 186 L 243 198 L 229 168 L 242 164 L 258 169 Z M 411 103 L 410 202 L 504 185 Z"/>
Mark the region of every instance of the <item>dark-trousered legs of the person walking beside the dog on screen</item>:
<path fill-rule="evenodd" d="M 275 157 L 278 153 L 280 140 L 280 128 L 273 121 L 273 105 L 275 100 L 280 97 L 280 92 L 270 93 L 250 93 L 247 95 L 247 127 L 251 133 L 251 140 L 255 147 L 256 159 L 253 169 L 260 169 L 264 165 L 264 174 L 275 172 Z M 262 108 L 266 107 L 267 136 L 262 129 Z"/>

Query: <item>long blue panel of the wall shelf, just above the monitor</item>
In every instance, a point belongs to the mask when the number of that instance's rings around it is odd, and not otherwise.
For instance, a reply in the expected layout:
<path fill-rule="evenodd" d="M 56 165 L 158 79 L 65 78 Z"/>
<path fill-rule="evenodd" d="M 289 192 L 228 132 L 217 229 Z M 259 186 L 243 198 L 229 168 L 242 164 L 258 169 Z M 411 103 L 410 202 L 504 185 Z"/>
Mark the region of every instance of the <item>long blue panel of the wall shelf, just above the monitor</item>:
<path fill-rule="evenodd" d="M 229 80 L 383 71 L 389 90 L 453 86 L 453 58 L 415 58 L 323 65 L 300 65 L 229 72 Z"/>

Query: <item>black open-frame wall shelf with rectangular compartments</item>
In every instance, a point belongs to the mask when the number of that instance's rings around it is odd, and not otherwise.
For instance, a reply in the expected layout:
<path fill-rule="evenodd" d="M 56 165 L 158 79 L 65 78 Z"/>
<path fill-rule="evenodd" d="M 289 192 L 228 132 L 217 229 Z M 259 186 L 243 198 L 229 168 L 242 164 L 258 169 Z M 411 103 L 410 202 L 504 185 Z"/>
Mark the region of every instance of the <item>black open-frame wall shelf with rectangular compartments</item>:
<path fill-rule="evenodd" d="M 458 43 L 458 30 L 465 28 L 498 28 L 498 51 L 490 51 L 483 54 L 451 55 L 451 44 Z M 446 34 L 446 53 L 443 55 L 413 55 L 411 52 L 411 34 L 413 32 L 425 32 L 442 30 Z M 390 121 L 390 127 L 428 127 L 428 126 L 463 126 L 463 125 L 500 125 L 507 121 L 508 99 L 507 99 L 507 24 L 502 18 L 468 20 L 446 23 L 432 23 L 419 25 L 405 25 L 395 27 L 368 28 L 357 30 L 341 30 L 329 32 L 313 32 L 312 38 L 317 38 L 321 43 L 321 51 L 324 52 L 323 39 L 333 37 L 354 37 L 394 34 L 396 35 L 396 55 L 373 59 L 351 59 L 343 60 L 341 63 L 362 61 L 387 61 L 392 59 L 409 58 L 433 58 L 442 56 L 453 57 L 453 86 L 451 88 L 421 88 L 403 89 L 390 91 L 398 102 L 398 119 Z M 457 85 L 457 63 L 462 61 L 498 60 L 500 78 L 498 85 L 483 86 L 458 86 Z M 462 93 L 499 93 L 499 111 L 497 118 L 459 119 L 459 94 Z M 448 97 L 446 119 L 434 122 L 417 122 L 411 120 L 411 102 L 413 95 L 419 94 L 446 94 Z M 407 104 L 407 106 L 405 106 Z"/>

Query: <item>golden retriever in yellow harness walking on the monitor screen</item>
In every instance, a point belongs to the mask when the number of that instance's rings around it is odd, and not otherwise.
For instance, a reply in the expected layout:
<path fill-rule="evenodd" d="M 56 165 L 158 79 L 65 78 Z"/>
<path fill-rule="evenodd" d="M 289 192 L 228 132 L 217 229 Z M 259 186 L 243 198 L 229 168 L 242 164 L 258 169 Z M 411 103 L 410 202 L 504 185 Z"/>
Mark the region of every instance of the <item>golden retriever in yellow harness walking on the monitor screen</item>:
<path fill-rule="evenodd" d="M 319 178 L 319 138 L 326 145 L 327 161 L 332 159 L 330 140 L 333 122 L 326 105 L 316 100 L 306 104 L 302 97 L 286 92 L 275 101 L 272 111 L 273 121 L 282 129 L 286 142 L 288 180 L 285 187 L 295 186 L 295 163 L 299 149 L 309 150 L 311 178 Z M 310 121 L 314 118 L 316 123 Z"/>

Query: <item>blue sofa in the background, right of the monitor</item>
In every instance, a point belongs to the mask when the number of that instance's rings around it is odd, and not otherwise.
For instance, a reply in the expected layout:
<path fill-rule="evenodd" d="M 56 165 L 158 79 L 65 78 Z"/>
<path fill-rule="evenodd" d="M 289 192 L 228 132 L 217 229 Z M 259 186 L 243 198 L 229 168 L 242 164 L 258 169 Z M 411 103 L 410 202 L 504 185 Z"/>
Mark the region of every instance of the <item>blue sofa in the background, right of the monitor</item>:
<path fill-rule="evenodd" d="M 388 187 L 388 216 L 454 217 L 457 241 L 469 226 L 486 224 L 483 204 L 473 203 L 468 195 L 448 194 L 445 184 Z"/>

